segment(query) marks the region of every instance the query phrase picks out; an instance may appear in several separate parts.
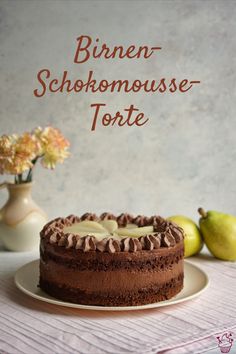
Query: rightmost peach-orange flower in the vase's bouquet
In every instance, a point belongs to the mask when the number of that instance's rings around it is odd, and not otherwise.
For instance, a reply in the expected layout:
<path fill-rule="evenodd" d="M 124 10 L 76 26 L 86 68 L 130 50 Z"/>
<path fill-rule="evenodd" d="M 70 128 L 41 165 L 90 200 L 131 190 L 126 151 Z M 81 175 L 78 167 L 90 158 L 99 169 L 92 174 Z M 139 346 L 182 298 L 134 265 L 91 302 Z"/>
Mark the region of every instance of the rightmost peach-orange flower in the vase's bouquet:
<path fill-rule="evenodd" d="M 65 158 L 69 156 L 68 148 L 70 143 L 59 129 L 53 127 L 42 129 L 38 127 L 33 134 L 40 142 L 41 163 L 44 167 L 53 169 L 58 162 L 63 163 Z"/>

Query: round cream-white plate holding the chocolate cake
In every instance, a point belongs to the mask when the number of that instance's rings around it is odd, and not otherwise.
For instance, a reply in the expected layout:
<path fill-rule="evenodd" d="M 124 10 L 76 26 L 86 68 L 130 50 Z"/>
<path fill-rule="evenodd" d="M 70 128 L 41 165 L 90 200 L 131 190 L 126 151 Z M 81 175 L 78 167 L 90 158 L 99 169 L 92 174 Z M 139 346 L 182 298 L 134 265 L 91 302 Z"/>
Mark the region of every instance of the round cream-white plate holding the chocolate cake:
<path fill-rule="evenodd" d="M 73 304 L 71 302 L 65 302 L 55 299 L 54 297 L 46 294 L 37 285 L 39 281 L 39 260 L 25 264 L 23 267 L 17 270 L 15 274 L 15 284 L 23 291 L 23 293 L 51 304 L 74 307 L 85 310 L 106 310 L 106 311 L 127 311 L 127 310 L 144 310 L 156 307 L 163 307 L 178 304 L 183 301 L 187 301 L 200 295 L 208 286 L 209 280 L 200 268 L 187 261 L 184 262 L 184 288 L 183 290 L 167 301 L 156 302 L 154 304 L 142 305 L 142 306 L 91 306 Z"/>

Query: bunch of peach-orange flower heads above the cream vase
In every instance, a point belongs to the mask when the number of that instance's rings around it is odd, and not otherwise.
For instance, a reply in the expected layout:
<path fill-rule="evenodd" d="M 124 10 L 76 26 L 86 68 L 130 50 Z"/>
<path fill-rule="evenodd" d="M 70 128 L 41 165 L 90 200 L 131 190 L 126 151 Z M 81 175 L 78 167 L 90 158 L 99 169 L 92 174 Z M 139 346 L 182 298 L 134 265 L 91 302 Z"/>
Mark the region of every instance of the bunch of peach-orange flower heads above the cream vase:
<path fill-rule="evenodd" d="M 22 175 L 29 170 L 26 179 L 21 176 L 18 183 L 31 181 L 31 169 L 37 159 L 41 158 L 44 167 L 53 169 L 69 156 L 69 145 L 61 132 L 52 127 L 39 127 L 21 136 L 3 135 L 0 137 L 0 174 Z"/>

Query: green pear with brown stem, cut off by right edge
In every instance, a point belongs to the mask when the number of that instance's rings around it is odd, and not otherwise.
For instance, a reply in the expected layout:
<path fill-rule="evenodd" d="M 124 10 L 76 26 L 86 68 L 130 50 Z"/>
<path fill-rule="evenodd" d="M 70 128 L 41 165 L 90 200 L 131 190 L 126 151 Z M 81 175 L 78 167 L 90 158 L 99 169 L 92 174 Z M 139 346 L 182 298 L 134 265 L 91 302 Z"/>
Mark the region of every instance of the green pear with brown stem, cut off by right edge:
<path fill-rule="evenodd" d="M 200 229 L 209 251 L 225 261 L 236 260 L 236 217 L 198 209 Z"/>

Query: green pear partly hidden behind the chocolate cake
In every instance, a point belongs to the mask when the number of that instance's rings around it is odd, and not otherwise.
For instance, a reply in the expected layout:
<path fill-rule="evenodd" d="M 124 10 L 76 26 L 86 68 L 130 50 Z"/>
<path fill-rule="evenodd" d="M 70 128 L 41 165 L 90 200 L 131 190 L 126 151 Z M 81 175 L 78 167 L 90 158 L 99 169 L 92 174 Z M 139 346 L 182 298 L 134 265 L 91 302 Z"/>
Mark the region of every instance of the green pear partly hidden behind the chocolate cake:
<path fill-rule="evenodd" d="M 199 253 L 203 246 L 203 240 L 195 222 L 183 215 L 170 216 L 168 220 L 173 221 L 184 230 L 184 257 L 187 258 Z"/>

